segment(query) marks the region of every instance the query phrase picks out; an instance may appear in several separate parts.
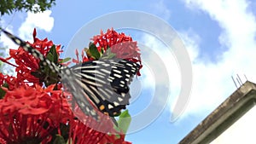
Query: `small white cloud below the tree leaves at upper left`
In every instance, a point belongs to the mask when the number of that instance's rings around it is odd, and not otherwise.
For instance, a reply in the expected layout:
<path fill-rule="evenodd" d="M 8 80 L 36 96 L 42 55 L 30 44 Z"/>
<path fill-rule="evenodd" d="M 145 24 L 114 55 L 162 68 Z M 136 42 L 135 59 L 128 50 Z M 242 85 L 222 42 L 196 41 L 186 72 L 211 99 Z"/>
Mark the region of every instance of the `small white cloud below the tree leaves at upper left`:
<path fill-rule="evenodd" d="M 32 40 L 34 28 L 50 32 L 54 26 L 54 18 L 50 16 L 51 11 L 45 10 L 43 13 L 27 13 L 26 20 L 21 24 L 19 32 L 20 38 Z"/>

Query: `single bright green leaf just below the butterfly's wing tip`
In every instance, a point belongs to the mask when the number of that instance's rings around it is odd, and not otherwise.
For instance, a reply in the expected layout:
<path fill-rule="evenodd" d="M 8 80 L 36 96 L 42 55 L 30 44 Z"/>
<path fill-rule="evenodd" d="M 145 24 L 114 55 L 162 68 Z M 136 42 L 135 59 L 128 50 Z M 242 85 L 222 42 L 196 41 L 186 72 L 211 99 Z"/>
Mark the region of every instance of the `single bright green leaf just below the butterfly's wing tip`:
<path fill-rule="evenodd" d="M 119 130 L 121 130 L 125 134 L 129 128 L 130 123 L 131 123 L 131 115 L 129 114 L 128 110 L 125 110 L 119 115 L 119 120 L 118 120 Z"/>

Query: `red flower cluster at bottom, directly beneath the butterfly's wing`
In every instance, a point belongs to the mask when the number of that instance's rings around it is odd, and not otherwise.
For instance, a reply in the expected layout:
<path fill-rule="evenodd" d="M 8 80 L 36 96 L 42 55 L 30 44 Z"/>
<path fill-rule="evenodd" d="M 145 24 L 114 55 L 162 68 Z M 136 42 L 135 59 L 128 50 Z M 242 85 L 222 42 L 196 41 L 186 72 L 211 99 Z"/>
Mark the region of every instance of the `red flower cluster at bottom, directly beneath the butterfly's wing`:
<path fill-rule="evenodd" d="M 83 114 L 83 112 L 80 112 Z M 99 113 L 101 114 L 101 113 Z M 76 144 L 131 144 L 125 141 L 125 135 L 113 129 L 113 122 L 102 114 L 102 119 L 97 122 L 94 118 L 88 116 L 84 121 L 74 120 L 70 122 L 71 139 L 76 140 Z M 100 129 L 100 130 L 98 130 Z M 111 135 L 116 134 L 116 135 Z M 119 135 L 118 135 L 119 134 Z"/>

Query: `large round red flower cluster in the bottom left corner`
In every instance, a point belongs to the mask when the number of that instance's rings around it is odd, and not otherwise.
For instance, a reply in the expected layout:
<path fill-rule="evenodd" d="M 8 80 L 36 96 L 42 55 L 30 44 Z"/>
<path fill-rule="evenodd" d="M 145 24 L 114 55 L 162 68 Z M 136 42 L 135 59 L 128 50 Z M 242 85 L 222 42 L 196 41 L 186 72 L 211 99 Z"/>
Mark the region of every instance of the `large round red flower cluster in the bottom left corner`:
<path fill-rule="evenodd" d="M 0 100 L 0 137 L 7 143 L 51 141 L 49 134 L 59 124 L 59 114 L 51 111 L 57 104 L 52 97 L 27 85 L 5 90 Z"/>

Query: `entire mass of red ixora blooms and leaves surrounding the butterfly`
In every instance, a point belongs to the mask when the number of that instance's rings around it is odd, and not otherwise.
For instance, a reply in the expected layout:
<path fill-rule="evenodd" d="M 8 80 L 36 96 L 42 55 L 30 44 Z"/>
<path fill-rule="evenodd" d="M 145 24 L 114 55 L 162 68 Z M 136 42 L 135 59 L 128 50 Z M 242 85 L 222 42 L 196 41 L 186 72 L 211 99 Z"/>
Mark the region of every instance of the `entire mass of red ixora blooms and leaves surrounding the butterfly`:
<path fill-rule="evenodd" d="M 55 64 L 67 66 L 71 63 L 67 62 L 69 58 L 59 58 L 60 45 L 55 46 L 47 38 L 40 40 L 36 35 L 34 30 L 34 42 L 29 43 L 34 49 Z M 76 50 L 77 59 L 73 59 L 73 63 L 113 57 L 141 62 L 137 43 L 124 33 L 111 29 L 93 37 L 92 41 L 90 48 L 82 51 L 81 60 Z M 119 46 L 120 43 L 126 43 L 121 44 L 125 47 Z M 62 84 L 55 79 L 56 73 L 50 72 L 49 67 L 42 67 L 40 60 L 21 47 L 10 49 L 9 55 L 9 58 L 0 60 L 15 66 L 16 77 L 0 73 L 0 143 L 131 144 L 125 141 L 128 128 L 117 127 L 111 118 L 102 117 L 99 123 L 84 115 L 83 121 L 79 120 L 78 114 L 83 113 L 74 104 L 75 115 L 67 102 L 67 97 L 72 95 L 61 90 Z M 15 59 L 15 64 L 9 63 L 10 59 Z M 130 118 L 130 115 L 125 111 L 119 117 Z M 121 123 L 118 121 L 118 125 L 127 125 Z M 91 124 L 102 127 L 103 131 L 92 129 L 88 126 Z"/>

